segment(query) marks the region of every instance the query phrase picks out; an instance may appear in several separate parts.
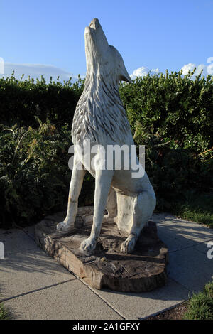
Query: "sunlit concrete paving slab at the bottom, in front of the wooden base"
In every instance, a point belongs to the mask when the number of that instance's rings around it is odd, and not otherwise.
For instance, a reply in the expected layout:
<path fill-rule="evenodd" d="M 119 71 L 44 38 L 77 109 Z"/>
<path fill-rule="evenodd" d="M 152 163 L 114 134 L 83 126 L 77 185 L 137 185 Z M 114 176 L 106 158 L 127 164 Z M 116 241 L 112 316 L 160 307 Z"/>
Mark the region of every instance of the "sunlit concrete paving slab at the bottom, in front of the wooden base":
<path fill-rule="evenodd" d="M 79 280 L 4 302 L 13 318 L 23 320 L 122 320 Z"/>

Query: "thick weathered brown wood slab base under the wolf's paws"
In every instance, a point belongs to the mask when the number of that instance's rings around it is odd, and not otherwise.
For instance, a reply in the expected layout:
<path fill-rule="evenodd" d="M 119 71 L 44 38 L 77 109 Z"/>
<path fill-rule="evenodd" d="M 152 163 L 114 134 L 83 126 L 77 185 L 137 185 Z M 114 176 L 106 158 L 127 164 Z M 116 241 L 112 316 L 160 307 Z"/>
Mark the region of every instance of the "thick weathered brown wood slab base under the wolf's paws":
<path fill-rule="evenodd" d="M 35 225 L 37 244 L 95 289 L 141 292 L 165 285 L 168 249 L 158 238 L 155 222 L 148 221 L 132 254 L 120 250 L 126 235 L 114 222 L 103 222 L 95 252 L 88 254 L 80 244 L 90 234 L 92 213 L 92 207 L 79 208 L 75 227 L 67 234 L 56 230 L 65 212 L 45 217 Z"/>

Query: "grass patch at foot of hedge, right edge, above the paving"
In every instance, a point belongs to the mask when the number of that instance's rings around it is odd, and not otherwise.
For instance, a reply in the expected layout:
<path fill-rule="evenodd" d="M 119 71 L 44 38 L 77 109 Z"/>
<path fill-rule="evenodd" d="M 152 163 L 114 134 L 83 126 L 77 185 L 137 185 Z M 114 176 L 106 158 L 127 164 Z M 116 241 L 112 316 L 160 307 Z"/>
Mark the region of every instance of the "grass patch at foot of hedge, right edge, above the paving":
<path fill-rule="evenodd" d="M 213 228 L 213 193 L 189 193 L 185 200 L 173 203 L 171 213 Z"/>

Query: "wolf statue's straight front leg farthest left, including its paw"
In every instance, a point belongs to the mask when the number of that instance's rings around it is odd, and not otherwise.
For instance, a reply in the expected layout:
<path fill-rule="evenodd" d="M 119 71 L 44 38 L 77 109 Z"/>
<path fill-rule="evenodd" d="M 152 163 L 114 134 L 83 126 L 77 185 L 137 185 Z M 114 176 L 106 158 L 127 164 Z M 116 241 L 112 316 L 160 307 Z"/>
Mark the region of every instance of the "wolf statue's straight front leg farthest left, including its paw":
<path fill-rule="evenodd" d="M 70 191 L 67 205 L 67 216 L 63 222 L 59 222 L 57 230 L 62 232 L 69 232 L 75 223 L 75 217 L 77 214 L 77 200 L 82 189 L 82 183 L 84 181 L 84 175 L 86 170 L 82 163 L 75 158 L 72 170 L 72 176 L 70 181 Z"/>

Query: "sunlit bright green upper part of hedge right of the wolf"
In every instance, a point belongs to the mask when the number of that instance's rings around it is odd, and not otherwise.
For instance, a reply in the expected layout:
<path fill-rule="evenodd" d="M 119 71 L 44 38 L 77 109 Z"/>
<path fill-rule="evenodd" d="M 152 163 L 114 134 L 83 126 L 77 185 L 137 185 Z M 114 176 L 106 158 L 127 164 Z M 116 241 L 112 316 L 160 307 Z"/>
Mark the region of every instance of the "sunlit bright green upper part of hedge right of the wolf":
<path fill-rule="evenodd" d="M 137 77 L 121 85 L 121 99 L 136 137 L 158 134 L 197 153 L 213 146 L 213 77 L 182 71 Z"/>

